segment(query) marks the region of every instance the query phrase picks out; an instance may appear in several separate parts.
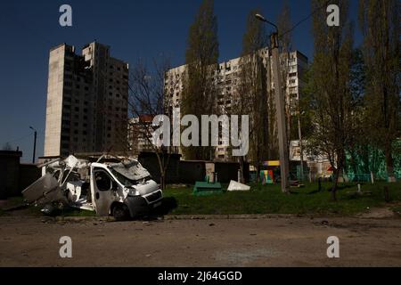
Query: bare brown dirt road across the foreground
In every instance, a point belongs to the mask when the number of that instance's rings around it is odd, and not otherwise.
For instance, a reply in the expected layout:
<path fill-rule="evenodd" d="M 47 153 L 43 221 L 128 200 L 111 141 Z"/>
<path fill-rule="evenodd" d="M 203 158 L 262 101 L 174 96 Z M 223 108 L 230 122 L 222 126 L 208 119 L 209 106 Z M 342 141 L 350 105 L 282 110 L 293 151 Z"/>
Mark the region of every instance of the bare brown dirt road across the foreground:
<path fill-rule="evenodd" d="M 270 218 L 156 222 L 0 217 L 0 266 L 401 266 L 401 220 Z M 72 258 L 59 256 L 70 236 Z M 326 255 L 340 239 L 340 258 Z"/>

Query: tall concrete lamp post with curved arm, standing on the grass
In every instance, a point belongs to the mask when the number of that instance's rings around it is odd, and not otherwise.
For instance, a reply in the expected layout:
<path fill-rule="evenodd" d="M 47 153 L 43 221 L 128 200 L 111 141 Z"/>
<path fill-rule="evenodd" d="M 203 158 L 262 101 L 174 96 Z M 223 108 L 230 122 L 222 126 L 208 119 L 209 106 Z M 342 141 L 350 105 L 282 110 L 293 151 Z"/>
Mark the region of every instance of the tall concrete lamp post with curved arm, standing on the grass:
<path fill-rule="evenodd" d="M 282 181 L 282 192 L 288 192 L 290 188 L 289 176 L 290 176 L 290 162 L 288 155 L 288 143 L 287 143 L 287 131 L 285 126 L 285 101 L 282 95 L 282 78 L 280 73 L 280 51 L 279 51 L 279 40 L 278 40 L 278 28 L 269 20 L 266 20 L 260 14 L 255 15 L 258 20 L 266 22 L 275 28 L 275 32 L 270 36 L 271 48 L 273 54 L 273 76 L 274 76 L 274 92 L 275 92 L 275 110 L 276 119 L 278 126 L 278 138 L 279 138 L 279 151 L 280 151 L 280 170 L 281 170 L 281 181 Z"/>

